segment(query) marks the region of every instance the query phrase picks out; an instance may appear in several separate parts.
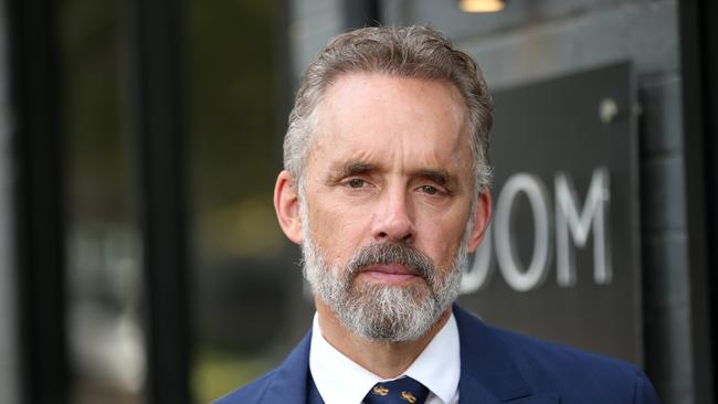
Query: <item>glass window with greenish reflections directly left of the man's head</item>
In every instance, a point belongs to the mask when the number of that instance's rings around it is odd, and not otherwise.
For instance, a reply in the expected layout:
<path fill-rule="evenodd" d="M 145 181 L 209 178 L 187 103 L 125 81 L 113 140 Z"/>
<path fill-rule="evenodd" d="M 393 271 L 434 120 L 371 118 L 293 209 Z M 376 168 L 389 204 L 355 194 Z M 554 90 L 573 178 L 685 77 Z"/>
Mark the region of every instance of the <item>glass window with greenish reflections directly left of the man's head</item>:
<path fill-rule="evenodd" d="M 306 331 L 297 248 L 272 204 L 286 113 L 275 1 L 186 2 L 194 253 L 193 391 L 210 402 L 279 362 Z"/>

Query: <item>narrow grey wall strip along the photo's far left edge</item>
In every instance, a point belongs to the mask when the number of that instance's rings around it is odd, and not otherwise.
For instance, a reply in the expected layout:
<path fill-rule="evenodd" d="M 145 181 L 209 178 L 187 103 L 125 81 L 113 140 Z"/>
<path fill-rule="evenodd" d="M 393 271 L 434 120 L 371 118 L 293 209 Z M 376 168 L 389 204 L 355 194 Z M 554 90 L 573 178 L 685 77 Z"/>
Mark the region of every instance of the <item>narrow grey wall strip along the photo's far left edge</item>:
<path fill-rule="evenodd" d="M 8 18 L 0 2 L 0 403 L 19 401 L 12 244 Z"/>

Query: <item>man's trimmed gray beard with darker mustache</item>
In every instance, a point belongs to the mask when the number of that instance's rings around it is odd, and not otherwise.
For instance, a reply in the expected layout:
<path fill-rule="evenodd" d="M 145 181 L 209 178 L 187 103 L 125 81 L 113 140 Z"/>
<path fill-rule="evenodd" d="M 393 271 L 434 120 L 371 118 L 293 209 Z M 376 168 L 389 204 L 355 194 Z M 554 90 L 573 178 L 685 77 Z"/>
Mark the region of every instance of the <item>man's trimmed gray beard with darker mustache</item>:
<path fill-rule="evenodd" d="M 327 263 L 312 241 L 308 215 L 302 209 L 304 225 L 304 277 L 350 331 L 368 340 L 415 341 L 426 334 L 458 297 L 463 269 L 467 263 L 469 225 L 447 272 L 435 268 L 431 258 L 403 243 L 371 244 L 358 251 L 346 268 Z M 367 266 L 395 263 L 414 268 L 424 283 L 387 286 L 353 280 Z M 443 277 L 442 273 L 445 273 Z"/>

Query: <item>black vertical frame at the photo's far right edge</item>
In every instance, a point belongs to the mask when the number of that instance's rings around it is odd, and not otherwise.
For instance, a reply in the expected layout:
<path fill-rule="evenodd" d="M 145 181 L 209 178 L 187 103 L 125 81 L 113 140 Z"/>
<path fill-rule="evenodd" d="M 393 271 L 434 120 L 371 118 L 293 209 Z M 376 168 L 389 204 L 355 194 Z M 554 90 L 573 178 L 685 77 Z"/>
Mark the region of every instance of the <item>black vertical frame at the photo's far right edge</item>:
<path fill-rule="evenodd" d="M 718 338 L 718 3 L 679 2 L 694 400 L 712 403 Z"/>

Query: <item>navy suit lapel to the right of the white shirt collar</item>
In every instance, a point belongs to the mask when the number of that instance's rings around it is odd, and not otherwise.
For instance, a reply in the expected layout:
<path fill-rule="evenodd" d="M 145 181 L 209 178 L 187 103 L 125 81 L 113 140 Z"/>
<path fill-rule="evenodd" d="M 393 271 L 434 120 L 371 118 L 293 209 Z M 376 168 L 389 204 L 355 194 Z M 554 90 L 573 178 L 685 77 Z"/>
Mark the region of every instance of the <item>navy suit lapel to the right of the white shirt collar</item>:
<path fill-rule="evenodd" d="M 558 403 L 553 394 L 536 394 L 511 361 L 509 347 L 481 320 L 454 305 L 461 343 L 462 403 Z"/>

